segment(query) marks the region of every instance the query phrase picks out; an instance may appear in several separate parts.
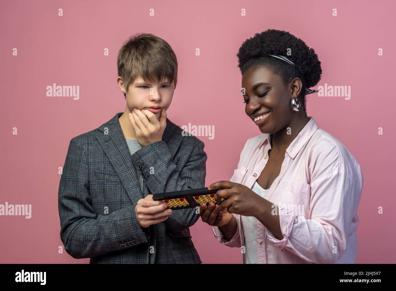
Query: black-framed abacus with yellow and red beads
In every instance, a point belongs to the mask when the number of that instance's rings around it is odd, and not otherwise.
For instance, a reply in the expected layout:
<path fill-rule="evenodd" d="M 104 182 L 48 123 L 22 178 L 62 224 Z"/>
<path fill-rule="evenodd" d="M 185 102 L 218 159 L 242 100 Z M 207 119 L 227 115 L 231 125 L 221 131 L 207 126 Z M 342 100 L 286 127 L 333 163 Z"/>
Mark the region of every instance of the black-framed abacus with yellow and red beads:
<path fill-rule="evenodd" d="M 202 203 L 209 205 L 210 202 L 217 204 L 215 193 L 220 189 L 208 190 L 208 187 L 188 189 L 154 194 L 152 200 L 164 201 L 172 210 L 197 207 Z M 221 198 L 222 202 L 224 198 Z"/>

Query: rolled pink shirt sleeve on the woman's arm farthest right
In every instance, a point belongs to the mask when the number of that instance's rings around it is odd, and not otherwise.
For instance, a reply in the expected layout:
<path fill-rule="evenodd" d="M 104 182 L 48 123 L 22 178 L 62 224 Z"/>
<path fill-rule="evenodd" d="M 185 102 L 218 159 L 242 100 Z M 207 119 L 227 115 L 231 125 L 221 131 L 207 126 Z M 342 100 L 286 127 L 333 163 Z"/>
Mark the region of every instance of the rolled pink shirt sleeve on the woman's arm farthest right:
<path fill-rule="evenodd" d="M 362 191 L 360 166 L 345 162 L 337 148 L 318 154 L 320 167 L 311 175 L 308 219 L 281 205 L 283 239 L 266 230 L 268 240 L 312 263 L 335 263 L 346 249 Z"/>

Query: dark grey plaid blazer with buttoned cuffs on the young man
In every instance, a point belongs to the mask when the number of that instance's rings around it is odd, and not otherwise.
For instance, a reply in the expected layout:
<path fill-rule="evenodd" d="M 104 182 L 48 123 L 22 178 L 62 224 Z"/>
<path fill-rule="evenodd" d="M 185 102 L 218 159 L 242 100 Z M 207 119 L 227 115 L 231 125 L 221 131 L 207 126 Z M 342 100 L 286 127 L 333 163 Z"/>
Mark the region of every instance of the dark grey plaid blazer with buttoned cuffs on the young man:
<path fill-rule="evenodd" d="M 202 263 L 188 228 L 199 218 L 195 208 L 143 228 L 135 206 L 148 194 L 204 187 L 204 143 L 167 119 L 162 141 L 131 156 L 121 115 L 70 141 L 58 192 L 65 250 L 91 264 Z M 133 164 L 143 169 L 143 193 Z"/>

